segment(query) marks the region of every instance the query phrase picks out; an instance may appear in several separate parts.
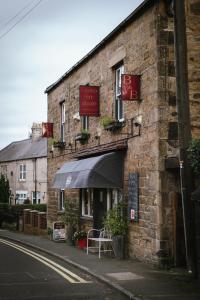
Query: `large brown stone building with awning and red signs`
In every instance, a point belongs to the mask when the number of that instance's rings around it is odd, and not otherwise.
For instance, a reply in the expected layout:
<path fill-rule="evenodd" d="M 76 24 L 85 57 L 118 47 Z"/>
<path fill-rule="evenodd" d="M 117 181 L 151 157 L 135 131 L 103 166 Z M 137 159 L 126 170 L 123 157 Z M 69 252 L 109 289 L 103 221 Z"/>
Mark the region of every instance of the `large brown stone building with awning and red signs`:
<path fill-rule="evenodd" d="M 200 134 L 199 9 L 199 1 L 185 1 L 193 137 Z M 49 226 L 62 216 L 64 198 L 79 208 L 85 229 L 102 226 L 106 211 L 122 200 L 130 208 L 129 256 L 156 262 L 164 250 L 175 265 L 183 263 L 174 49 L 172 2 L 146 0 L 46 89 L 56 146 L 49 140 Z M 127 82 L 139 75 L 132 90 L 139 98 L 122 100 L 122 74 Z M 84 112 L 82 86 L 96 115 L 90 104 Z M 92 94 L 98 92 L 99 107 Z"/>

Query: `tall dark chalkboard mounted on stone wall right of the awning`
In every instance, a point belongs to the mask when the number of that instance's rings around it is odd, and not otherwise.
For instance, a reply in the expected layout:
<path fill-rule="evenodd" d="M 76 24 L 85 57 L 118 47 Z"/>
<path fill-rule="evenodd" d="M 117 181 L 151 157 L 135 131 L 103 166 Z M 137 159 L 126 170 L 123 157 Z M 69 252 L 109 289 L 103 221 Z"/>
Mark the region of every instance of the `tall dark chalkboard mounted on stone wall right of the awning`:
<path fill-rule="evenodd" d="M 139 220 L 139 174 L 130 173 L 128 178 L 128 219 Z"/>

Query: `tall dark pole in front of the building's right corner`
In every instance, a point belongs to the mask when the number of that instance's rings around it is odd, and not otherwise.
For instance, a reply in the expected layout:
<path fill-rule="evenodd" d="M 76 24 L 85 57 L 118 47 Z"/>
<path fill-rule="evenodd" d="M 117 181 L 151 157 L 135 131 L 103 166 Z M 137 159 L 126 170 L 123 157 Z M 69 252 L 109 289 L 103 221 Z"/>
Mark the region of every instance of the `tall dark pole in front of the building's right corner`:
<path fill-rule="evenodd" d="M 183 207 L 183 223 L 187 269 L 190 275 L 197 276 L 195 253 L 194 204 L 191 201 L 193 180 L 187 159 L 187 147 L 191 140 L 187 37 L 185 1 L 174 0 L 174 35 L 176 60 L 176 99 L 178 112 L 178 132 L 180 147 L 180 181 Z"/>

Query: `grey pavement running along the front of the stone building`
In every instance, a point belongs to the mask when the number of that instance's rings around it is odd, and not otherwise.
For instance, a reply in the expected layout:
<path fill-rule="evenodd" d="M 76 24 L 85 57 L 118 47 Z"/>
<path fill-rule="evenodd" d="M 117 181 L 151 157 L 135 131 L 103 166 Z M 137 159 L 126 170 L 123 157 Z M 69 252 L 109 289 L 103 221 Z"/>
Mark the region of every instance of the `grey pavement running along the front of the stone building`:
<path fill-rule="evenodd" d="M 0 230 L 0 238 L 10 239 L 42 250 L 95 276 L 134 300 L 200 300 L 200 280 L 185 269 L 162 270 L 134 259 L 119 260 L 85 250 L 66 242 L 54 242 L 48 236 Z"/>

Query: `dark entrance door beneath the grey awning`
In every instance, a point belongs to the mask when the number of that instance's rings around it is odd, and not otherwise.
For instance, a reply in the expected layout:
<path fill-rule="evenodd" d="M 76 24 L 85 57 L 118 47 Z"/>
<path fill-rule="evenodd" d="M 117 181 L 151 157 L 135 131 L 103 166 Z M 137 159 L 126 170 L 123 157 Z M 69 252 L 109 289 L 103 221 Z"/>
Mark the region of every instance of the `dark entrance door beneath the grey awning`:
<path fill-rule="evenodd" d="M 103 220 L 107 212 L 107 190 L 94 189 L 93 199 L 93 227 L 101 229 L 104 227 Z"/>

